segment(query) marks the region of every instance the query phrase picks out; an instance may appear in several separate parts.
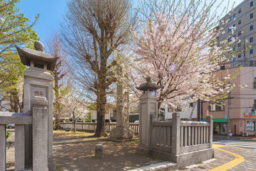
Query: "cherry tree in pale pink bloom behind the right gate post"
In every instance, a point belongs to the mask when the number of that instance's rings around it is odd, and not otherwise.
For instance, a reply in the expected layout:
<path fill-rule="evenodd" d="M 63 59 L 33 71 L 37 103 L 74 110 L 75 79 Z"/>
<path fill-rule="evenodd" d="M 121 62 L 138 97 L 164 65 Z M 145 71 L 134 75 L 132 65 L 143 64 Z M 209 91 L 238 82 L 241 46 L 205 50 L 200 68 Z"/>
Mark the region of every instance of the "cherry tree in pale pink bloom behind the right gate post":
<path fill-rule="evenodd" d="M 212 12 L 215 1 L 144 1 L 141 3 L 140 30 L 135 38 L 131 79 L 140 84 L 145 77 L 161 85 L 157 93 L 158 107 L 168 104 L 178 107 L 190 101 L 216 100 L 227 96 L 228 80 L 234 73 L 225 71 L 221 80 L 215 71 L 226 57 L 230 43 L 217 39 L 222 28 L 216 27 L 219 18 Z M 231 86 L 231 88 L 234 85 Z"/>

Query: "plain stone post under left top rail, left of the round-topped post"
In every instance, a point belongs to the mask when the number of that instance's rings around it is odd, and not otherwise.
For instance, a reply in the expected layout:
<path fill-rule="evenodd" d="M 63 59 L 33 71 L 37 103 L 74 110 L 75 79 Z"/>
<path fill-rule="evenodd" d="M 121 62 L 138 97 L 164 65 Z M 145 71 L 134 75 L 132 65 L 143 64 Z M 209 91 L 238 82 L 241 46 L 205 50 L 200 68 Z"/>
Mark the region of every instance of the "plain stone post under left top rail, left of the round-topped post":
<path fill-rule="evenodd" d="M 25 126 L 15 124 L 15 170 L 25 169 Z"/>

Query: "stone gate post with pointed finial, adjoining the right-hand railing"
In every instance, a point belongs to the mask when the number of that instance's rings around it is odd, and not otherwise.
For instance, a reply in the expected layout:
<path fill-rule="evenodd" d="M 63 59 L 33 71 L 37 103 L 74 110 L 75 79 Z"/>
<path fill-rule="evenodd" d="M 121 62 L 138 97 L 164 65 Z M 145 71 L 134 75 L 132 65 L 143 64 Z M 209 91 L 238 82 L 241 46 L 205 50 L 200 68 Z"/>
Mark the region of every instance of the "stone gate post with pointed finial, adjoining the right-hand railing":
<path fill-rule="evenodd" d="M 147 77 L 147 82 L 136 88 L 143 91 L 139 105 L 139 150 L 148 153 L 151 149 L 152 131 L 150 130 L 152 130 L 152 122 L 157 121 L 156 90 L 159 89 L 159 85 L 152 83 L 151 78 Z"/>

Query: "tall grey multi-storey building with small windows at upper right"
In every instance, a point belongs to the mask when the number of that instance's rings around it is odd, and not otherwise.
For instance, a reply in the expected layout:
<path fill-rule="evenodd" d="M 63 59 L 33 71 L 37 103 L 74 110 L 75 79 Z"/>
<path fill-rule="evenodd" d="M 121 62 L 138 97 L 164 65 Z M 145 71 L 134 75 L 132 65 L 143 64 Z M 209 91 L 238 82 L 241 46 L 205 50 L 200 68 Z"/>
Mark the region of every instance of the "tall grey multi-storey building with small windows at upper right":
<path fill-rule="evenodd" d="M 227 23 L 222 25 L 223 22 Z M 220 34 L 219 43 L 225 39 L 231 41 L 232 37 L 241 40 L 231 47 L 236 55 L 230 57 L 231 61 L 228 65 L 256 66 L 256 1 L 244 0 L 220 20 L 220 27 L 222 26 L 225 33 Z M 247 50 L 244 51 L 246 48 Z M 227 65 L 221 67 L 221 69 L 225 68 Z"/>

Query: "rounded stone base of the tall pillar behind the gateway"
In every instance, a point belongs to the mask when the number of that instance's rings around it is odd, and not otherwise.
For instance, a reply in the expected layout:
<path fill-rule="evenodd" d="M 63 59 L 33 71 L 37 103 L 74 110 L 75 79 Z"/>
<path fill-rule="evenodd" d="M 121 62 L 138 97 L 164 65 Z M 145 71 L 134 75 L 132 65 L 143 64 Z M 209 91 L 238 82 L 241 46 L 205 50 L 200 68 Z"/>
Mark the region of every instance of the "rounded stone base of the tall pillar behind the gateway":
<path fill-rule="evenodd" d="M 133 137 L 133 130 L 131 128 L 125 128 L 122 126 L 117 126 L 110 132 L 111 139 L 132 139 Z"/>

